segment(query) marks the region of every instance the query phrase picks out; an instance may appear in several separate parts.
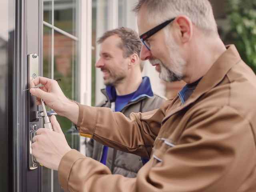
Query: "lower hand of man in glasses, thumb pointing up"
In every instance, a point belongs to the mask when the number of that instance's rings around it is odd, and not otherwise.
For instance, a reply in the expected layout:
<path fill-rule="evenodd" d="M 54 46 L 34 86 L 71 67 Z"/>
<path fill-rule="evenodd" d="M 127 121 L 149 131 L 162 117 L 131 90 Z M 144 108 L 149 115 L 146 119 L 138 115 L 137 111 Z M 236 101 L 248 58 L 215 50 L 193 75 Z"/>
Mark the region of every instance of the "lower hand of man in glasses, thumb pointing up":
<path fill-rule="evenodd" d="M 55 116 L 50 118 L 52 130 L 40 128 L 31 145 L 36 161 L 43 166 L 58 170 L 62 157 L 71 150 Z"/>

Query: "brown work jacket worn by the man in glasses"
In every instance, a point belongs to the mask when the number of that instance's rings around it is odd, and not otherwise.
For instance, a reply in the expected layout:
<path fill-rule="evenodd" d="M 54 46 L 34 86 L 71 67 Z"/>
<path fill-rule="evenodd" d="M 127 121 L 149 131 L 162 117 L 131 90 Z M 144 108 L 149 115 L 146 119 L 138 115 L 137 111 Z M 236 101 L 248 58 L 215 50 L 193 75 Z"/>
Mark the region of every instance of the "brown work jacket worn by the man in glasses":
<path fill-rule="evenodd" d="M 256 192 L 256 76 L 233 45 L 185 104 L 176 97 L 130 118 L 109 108 L 79 108 L 81 135 L 150 161 L 136 178 L 126 178 L 71 150 L 58 168 L 65 190 Z"/>

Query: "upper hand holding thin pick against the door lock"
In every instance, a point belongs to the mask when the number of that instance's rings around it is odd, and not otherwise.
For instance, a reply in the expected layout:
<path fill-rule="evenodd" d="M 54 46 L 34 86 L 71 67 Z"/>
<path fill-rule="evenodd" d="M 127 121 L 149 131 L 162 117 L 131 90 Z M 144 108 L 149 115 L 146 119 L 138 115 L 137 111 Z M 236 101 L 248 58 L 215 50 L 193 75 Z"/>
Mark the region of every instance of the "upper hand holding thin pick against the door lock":
<path fill-rule="evenodd" d="M 30 93 L 37 97 L 37 104 L 41 104 L 40 99 L 44 100 L 45 104 L 52 108 L 58 115 L 65 116 L 76 123 L 78 118 L 78 106 L 72 102 L 62 92 L 58 82 L 45 77 L 37 77 L 30 82 L 30 87 L 43 84 L 40 88 L 31 88 Z M 73 113 L 70 114 L 70 111 Z M 74 116 L 77 113 L 77 117 Z"/>

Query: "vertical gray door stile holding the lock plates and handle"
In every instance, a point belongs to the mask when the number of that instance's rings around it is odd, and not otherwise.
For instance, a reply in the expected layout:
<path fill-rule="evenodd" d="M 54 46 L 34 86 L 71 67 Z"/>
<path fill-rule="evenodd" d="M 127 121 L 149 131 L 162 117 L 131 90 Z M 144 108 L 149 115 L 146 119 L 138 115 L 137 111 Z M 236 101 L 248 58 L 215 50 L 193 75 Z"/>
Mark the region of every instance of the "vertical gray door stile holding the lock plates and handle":
<path fill-rule="evenodd" d="M 41 168 L 29 170 L 29 148 L 28 148 L 28 130 L 30 122 L 30 94 L 23 92 L 28 88 L 28 54 L 38 54 L 39 75 L 42 74 L 42 0 L 22 0 L 18 1 L 18 17 L 19 17 L 19 39 L 17 52 L 19 54 L 19 78 L 18 78 L 18 156 L 16 159 L 17 165 L 17 192 L 35 191 L 41 189 Z M 42 124 L 40 120 L 40 124 Z"/>

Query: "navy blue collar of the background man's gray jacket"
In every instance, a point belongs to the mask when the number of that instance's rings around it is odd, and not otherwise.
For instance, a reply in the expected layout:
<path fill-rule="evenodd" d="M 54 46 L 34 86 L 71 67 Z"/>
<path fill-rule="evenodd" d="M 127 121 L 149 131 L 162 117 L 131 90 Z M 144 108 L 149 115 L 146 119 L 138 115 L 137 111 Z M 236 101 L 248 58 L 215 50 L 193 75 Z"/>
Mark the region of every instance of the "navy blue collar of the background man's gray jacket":
<path fill-rule="evenodd" d="M 116 100 L 116 88 L 114 86 L 106 86 L 106 89 L 102 89 L 101 92 L 106 96 L 106 98 L 110 102 L 114 102 Z M 135 102 L 143 97 L 153 97 L 153 91 L 150 84 L 150 79 L 148 77 L 143 77 L 142 82 L 138 89 L 136 90 L 132 100 L 130 102 Z"/>

